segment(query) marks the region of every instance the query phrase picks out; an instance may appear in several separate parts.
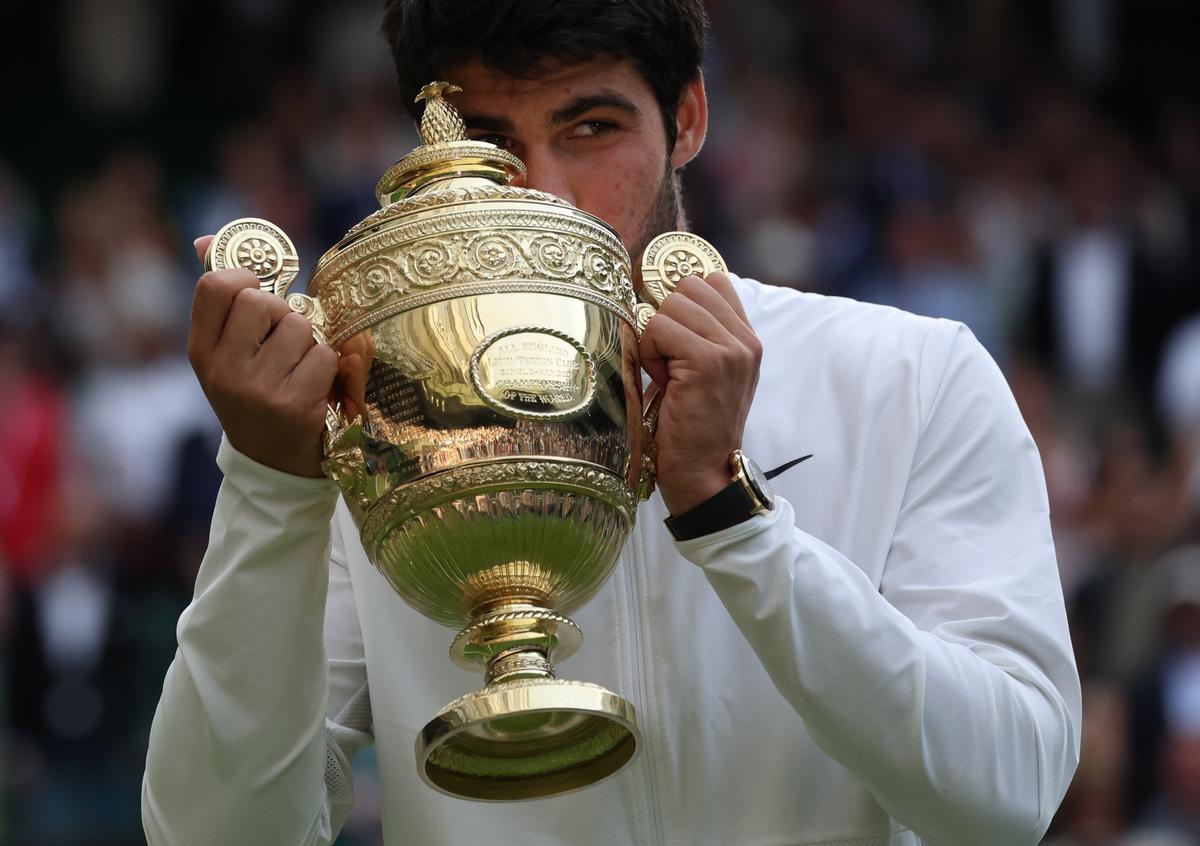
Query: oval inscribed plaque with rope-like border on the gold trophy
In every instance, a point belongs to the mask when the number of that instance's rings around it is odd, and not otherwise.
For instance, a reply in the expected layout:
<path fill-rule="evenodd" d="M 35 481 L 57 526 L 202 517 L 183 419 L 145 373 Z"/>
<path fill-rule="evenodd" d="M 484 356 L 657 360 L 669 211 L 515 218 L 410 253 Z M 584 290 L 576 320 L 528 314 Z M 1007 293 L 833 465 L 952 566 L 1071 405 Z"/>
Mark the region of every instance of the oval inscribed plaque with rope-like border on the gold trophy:
<path fill-rule="evenodd" d="M 583 344 L 542 326 L 484 338 L 470 356 L 470 380 L 491 408 L 521 420 L 569 420 L 588 409 L 596 388 Z"/>

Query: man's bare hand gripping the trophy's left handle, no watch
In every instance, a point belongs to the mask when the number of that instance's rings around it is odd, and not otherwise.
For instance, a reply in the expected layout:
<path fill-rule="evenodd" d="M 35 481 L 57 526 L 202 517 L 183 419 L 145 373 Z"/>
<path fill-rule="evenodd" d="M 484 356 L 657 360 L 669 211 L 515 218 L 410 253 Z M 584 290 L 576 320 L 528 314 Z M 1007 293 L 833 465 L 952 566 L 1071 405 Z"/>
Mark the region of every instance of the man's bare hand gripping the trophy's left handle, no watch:
<path fill-rule="evenodd" d="M 212 236 L 197 239 L 204 253 Z M 187 358 L 238 451 L 284 473 L 320 476 L 325 406 L 337 354 L 248 270 L 210 270 L 196 284 Z"/>

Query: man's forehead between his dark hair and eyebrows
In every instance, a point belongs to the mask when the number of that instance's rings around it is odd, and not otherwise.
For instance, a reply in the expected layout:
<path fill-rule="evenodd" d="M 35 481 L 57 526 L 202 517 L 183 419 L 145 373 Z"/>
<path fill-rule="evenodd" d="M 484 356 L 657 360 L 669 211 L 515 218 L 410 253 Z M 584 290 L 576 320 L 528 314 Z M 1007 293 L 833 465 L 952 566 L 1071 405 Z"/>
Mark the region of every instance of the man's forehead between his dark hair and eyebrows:
<path fill-rule="evenodd" d="M 634 66 L 607 56 L 575 65 L 550 65 L 532 79 L 510 77 L 472 61 L 448 71 L 446 80 L 462 88 L 452 101 L 464 114 L 539 116 L 602 90 L 616 91 L 642 109 L 654 107 L 654 92 Z"/>

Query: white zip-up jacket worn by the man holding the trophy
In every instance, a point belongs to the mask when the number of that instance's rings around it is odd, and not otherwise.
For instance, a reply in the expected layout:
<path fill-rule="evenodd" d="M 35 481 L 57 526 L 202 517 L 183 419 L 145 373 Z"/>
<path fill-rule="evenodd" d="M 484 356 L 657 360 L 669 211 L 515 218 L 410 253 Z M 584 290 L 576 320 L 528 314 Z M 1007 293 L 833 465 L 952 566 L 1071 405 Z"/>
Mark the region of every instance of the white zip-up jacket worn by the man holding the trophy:
<path fill-rule="evenodd" d="M 635 704 L 630 767 L 515 804 L 426 787 L 416 732 L 481 677 L 366 560 L 329 482 L 226 443 L 151 731 L 150 842 L 326 844 L 374 740 L 389 846 L 1036 844 L 1079 758 L 1080 689 L 1003 377 L 961 325 L 737 284 L 766 350 L 743 449 L 812 458 L 774 480 L 774 511 L 686 542 L 654 497 L 574 614 L 559 673 Z"/>

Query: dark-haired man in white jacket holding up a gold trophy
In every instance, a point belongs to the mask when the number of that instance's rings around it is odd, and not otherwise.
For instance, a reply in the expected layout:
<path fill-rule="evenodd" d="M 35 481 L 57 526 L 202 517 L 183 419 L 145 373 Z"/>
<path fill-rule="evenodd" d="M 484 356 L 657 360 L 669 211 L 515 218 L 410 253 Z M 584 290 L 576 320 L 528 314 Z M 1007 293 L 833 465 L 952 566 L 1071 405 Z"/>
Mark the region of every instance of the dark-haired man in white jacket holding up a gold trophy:
<path fill-rule="evenodd" d="M 674 173 L 707 127 L 700 0 L 391 0 L 384 30 L 402 90 L 461 85 L 474 137 L 634 256 L 680 223 Z M 566 665 L 635 703 L 643 755 L 512 805 L 418 778 L 416 731 L 473 680 L 335 514 L 335 361 L 307 332 L 247 275 L 200 278 L 190 349 L 226 481 L 151 732 L 151 844 L 329 842 L 372 740 L 389 844 L 1037 842 L 1078 761 L 1079 680 L 1037 451 L 964 328 L 680 283 L 641 350 L 665 391 L 660 494 L 576 614 L 610 640 Z M 812 457 L 770 510 L 715 520 L 737 449 Z"/>

